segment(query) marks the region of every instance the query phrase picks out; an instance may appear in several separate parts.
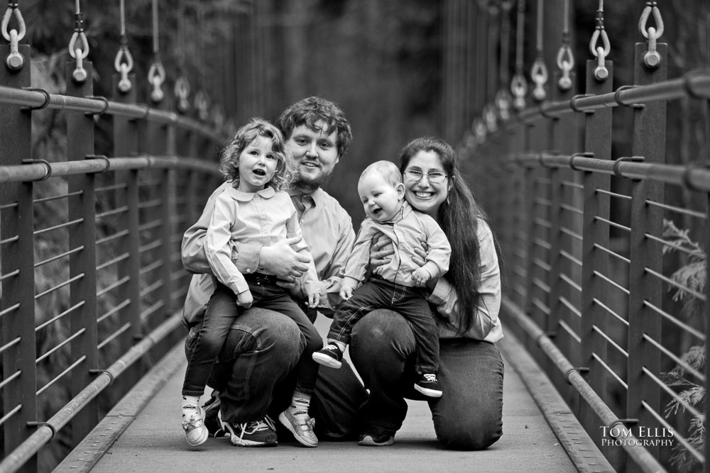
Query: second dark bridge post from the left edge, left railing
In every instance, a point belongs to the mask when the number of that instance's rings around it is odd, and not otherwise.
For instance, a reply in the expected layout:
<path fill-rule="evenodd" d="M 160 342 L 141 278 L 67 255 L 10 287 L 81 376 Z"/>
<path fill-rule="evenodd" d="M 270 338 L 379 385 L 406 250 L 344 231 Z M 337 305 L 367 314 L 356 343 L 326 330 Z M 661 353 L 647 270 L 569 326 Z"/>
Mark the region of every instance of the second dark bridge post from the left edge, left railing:
<path fill-rule="evenodd" d="M 84 62 L 88 79 L 74 82 L 75 62 L 67 62 L 67 96 L 92 96 L 94 90 L 91 62 Z M 67 111 L 67 160 L 77 161 L 94 155 L 94 117 L 87 113 Z M 92 372 L 99 368 L 97 335 L 97 281 L 96 281 L 96 186 L 95 174 L 78 174 L 67 179 L 69 199 L 70 306 L 82 304 L 71 314 L 72 334 L 82 333 L 72 340 L 72 396 L 79 394 L 93 381 Z M 72 421 L 72 440 L 75 444 L 91 432 L 99 422 L 97 399 L 90 401 Z"/>

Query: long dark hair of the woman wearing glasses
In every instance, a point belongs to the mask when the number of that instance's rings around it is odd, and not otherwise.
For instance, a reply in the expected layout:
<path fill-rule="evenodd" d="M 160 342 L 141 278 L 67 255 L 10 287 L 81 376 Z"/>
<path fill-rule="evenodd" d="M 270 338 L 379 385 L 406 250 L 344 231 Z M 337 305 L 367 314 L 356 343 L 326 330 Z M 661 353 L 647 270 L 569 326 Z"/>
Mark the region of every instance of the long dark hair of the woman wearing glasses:
<path fill-rule="evenodd" d="M 465 333 L 471 328 L 473 314 L 481 303 L 479 285 L 481 284 L 481 251 L 479 248 L 478 226 L 480 221 L 488 223 L 488 216 L 476 201 L 468 184 L 461 179 L 457 166 L 456 152 L 444 140 L 434 137 L 416 138 L 400 151 L 400 171 L 404 172 L 410 160 L 418 152 L 435 152 L 449 179 L 449 196 L 437 213 L 439 226 L 449 238 L 451 259 L 446 278 L 457 289 L 459 296 L 457 311 L 461 313 L 459 330 Z M 498 250 L 495 235 L 493 241 Z"/>

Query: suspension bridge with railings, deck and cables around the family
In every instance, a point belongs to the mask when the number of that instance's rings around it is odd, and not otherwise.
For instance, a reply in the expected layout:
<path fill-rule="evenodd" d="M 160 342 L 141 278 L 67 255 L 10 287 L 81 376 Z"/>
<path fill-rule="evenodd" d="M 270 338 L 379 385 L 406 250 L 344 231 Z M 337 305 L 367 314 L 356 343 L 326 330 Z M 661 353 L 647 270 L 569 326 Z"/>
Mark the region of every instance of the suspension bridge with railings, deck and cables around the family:
<path fill-rule="evenodd" d="M 229 115 L 283 108 L 283 94 L 264 89 L 267 65 L 252 62 L 261 72 L 242 77 L 246 110 L 226 100 L 210 113 L 205 91 L 191 94 L 187 76 L 168 77 L 160 61 L 158 1 L 145 103 L 123 1 L 110 98 L 94 95 L 79 1 L 65 90 L 33 86 L 30 18 L 10 1 L 0 44 L 0 472 L 47 468 L 40 458 L 59 440 L 49 462 L 58 471 L 709 471 L 710 71 L 671 67 L 662 2 L 629 2 L 638 43 L 623 67 L 633 80 L 615 84 L 603 1 L 591 3 L 591 18 L 569 0 L 441 6 L 440 134 L 457 144 L 506 261 L 503 438 L 484 452 L 444 450 L 427 405 L 412 402 L 390 448 L 236 451 L 209 439 L 195 452 L 172 421 L 190 278 L 182 233 L 219 185 L 214 156 Z M 239 16 L 273 13 L 264 5 L 246 2 Z M 584 60 L 579 21 L 593 26 Z M 250 51 L 256 61 L 263 49 Z M 61 159 L 33 150 L 43 110 L 66 122 Z M 694 162 L 675 159 L 684 154 Z"/>

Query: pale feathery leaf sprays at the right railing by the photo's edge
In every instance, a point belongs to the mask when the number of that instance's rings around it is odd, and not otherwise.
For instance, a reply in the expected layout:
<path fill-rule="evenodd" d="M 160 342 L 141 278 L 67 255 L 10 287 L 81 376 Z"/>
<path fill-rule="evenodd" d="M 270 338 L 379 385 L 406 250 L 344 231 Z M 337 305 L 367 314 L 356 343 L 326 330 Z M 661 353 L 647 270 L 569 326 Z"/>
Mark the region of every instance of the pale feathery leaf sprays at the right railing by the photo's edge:
<path fill-rule="evenodd" d="M 687 320 L 699 318 L 703 313 L 703 302 L 691 292 L 682 289 L 686 287 L 698 294 L 704 294 L 706 280 L 706 255 L 700 245 L 689 237 L 689 230 L 681 230 L 672 221 L 663 221 L 663 238 L 667 242 L 663 247 L 663 253 L 670 253 L 677 250 L 687 255 L 687 261 L 676 269 L 671 275 L 671 279 L 681 287 L 672 286 L 670 291 L 674 291 L 673 300 L 682 302 L 681 315 Z M 685 365 L 691 367 L 696 372 L 704 372 L 705 369 L 705 346 L 694 345 L 683 353 L 680 357 Z M 665 415 L 677 416 L 679 413 L 686 413 L 688 407 L 705 405 L 705 386 L 701 386 L 687 377 L 688 369 L 684 365 L 676 365 L 670 372 L 664 373 L 662 380 L 668 386 L 677 389 L 678 399 L 672 399 L 666 405 Z M 701 416 L 693 415 L 690 419 L 688 443 L 697 451 L 702 452 L 705 443 L 705 413 L 701 411 Z M 674 445 L 671 456 L 672 464 L 679 471 L 687 472 L 697 469 L 700 464 L 694 455 L 679 443 Z"/>

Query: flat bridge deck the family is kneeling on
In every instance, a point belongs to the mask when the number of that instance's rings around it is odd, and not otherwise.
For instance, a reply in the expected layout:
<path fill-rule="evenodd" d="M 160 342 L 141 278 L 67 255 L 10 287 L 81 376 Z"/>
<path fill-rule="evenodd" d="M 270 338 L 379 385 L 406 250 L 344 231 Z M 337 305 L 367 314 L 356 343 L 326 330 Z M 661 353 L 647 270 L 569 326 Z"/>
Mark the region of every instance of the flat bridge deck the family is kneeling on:
<path fill-rule="evenodd" d="M 518 340 L 508 335 L 499 347 L 506 360 L 503 437 L 485 451 L 458 452 L 439 447 L 427 404 L 414 401 L 410 401 L 410 411 L 392 447 L 324 442 L 316 449 L 291 443 L 249 449 L 233 447 L 226 439 L 210 438 L 199 450 L 191 450 L 176 414 L 186 366 L 180 345 L 55 471 L 613 471 L 562 399 L 541 381 L 541 372 Z M 526 385 L 533 386 L 535 399 Z"/>

